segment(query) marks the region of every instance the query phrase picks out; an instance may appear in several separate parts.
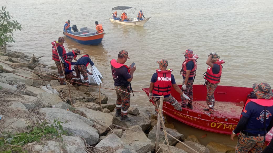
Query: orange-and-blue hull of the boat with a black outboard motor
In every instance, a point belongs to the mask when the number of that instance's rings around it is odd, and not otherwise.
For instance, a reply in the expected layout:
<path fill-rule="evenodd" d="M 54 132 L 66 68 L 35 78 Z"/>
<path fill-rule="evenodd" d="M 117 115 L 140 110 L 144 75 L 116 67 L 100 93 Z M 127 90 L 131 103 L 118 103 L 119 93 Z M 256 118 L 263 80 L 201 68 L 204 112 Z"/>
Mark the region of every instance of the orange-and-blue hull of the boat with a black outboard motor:
<path fill-rule="evenodd" d="M 73 35 L 71 33 L 66 33 L 66 32 L 63 32 L 63 34 L 80 44 L 98 45 L 102 42 L 102 38 L 104 37 L 105 33 L 103 32 L 103 33 L 99 33 L 99 34 L 91 35 L 91 36 L 77 36 L 77 35 Z"/>

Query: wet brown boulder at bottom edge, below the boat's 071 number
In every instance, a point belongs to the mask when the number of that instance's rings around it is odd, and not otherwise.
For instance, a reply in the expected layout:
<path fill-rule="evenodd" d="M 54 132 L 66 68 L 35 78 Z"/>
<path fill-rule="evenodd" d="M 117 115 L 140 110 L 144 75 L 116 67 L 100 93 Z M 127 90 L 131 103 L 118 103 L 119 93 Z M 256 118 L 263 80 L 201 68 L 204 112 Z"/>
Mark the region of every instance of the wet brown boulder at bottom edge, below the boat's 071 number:
<path fill-rule="evenodd" d="M 209 142 L 206 146 L 210 153 L 227 153 L 235 151 L 235 148 L 217 142 Z"/>

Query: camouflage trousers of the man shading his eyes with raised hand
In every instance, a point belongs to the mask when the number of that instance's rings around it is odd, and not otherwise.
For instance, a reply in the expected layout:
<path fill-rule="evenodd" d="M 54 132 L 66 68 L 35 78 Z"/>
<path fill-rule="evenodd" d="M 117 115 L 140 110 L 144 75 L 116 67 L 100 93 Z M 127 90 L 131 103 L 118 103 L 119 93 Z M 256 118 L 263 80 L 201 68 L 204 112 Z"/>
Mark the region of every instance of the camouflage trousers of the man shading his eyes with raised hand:
<path fill-rule="evenodd" d="M 213 102 L 215 101 L 214 91 L 215 91 L 218 83 L 212 84 L 209 81 L 207 81 L 206 85 L 207 85 L 207 98 L 206 98 L 206 102 L 207 102 L 207 105 L 209 106 L 209 113 L 213 114 L 213 111 L 214 111 Z"/>

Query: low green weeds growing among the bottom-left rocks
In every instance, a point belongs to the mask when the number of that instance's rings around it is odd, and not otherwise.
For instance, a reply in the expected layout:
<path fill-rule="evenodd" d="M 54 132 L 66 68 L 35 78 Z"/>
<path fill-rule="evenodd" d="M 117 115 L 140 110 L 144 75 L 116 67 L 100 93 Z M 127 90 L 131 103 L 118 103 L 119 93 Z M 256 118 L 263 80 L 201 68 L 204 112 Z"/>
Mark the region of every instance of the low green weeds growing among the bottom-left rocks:
<path fill-rule="evenodd" d="M 49 126 L 47 125 L 48 123 L 44 121 L 29 132 L 3 134 L 4 136 L 0 137 L 0 153 L 26 153 L 27 151 L 21 146 L 31 142 L 40 142 L 41 138 L 52 139 L 55 136 L 60 137 L 61 141 L 63 141 L 61 134 L 67 134 L 67 132 L 64 131 L 61 123 L 63 122 L 54 120 L 53 124 Z M 61 132 L 59 132 L 59 130 Z"/>

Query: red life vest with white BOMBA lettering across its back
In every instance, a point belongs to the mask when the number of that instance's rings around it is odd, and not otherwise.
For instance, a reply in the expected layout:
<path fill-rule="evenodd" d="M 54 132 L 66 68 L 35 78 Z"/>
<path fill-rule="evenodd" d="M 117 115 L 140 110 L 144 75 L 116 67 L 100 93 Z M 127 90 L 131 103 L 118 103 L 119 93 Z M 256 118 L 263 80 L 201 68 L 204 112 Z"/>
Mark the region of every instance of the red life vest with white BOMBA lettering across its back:
<path fill-rule="evenodd" d="M 171 94 L 171 71 L 172 69 L 168 69 L 167 71 L 156 70 L 157 80 L 154 83 L 153 94 L 157 95 L 168 95 Z"/>

